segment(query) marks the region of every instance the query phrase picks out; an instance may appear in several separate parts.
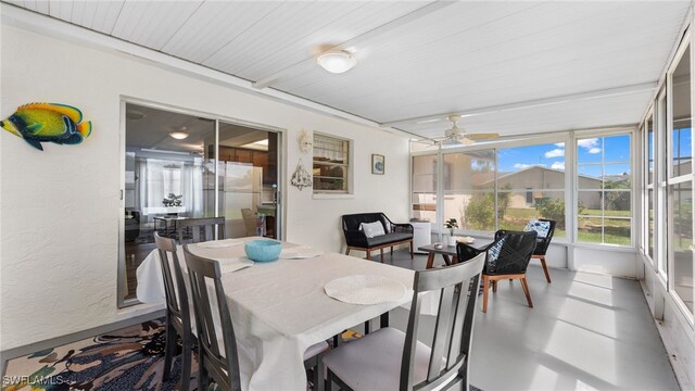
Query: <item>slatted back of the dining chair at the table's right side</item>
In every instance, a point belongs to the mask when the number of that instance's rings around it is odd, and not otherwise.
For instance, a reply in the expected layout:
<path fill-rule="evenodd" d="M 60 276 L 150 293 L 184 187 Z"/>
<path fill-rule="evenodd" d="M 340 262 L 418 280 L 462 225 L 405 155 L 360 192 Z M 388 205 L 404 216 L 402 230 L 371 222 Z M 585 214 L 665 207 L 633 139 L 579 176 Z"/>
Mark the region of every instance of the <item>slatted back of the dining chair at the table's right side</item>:
<path fill-rule="evenodd" d="M 481 253 L 470 261 L 454 266 L 415 274 L 413 304 L 401 363 L 401 390 L 429 391 L 462 380 L 468 384 L 468 357 L 476 313 L 467 310 L 471 305 L 471 300 L 475 307 L 478 286 L 473 287 L 471 282 L 478 283 L 484 257 L 485 254 Z M 420 293 L 428 291 L 440 291 L 439 313 L 434 325 L 427 379 L 413 384 L 412 375 L 422 300 Z M 466 300 L 462 298 L 469 299 L 463 304 L 462 301 Z M 458 336 L 454 337 L 454 332 Z"/>

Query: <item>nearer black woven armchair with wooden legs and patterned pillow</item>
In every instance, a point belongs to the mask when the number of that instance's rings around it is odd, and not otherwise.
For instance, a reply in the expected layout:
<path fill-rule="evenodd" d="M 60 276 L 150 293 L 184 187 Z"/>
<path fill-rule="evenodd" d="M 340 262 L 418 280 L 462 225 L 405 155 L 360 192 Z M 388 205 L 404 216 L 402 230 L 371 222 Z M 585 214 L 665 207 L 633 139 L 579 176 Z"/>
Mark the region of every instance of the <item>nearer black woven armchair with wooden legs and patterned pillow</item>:
<path fill-rule="evenodd" d="M 488 312 L 488 295 L 490 283 L 492 291 L 497 291 L 497 281 L 502 279 L 520 279 L 521 289 L 533 308 L 529 283 L 526 279 L 526 269 L 535 249 L 536 231 L 508 231 L 501 229 L 495 232 L 495 241 L 492 244 L 476 249 L 471 245 L 458 243 L 456 248 L 458 260 L 465 261 L 480 254 L 485 254 L 485 267 L 482 270 L 482 312 Z"/>

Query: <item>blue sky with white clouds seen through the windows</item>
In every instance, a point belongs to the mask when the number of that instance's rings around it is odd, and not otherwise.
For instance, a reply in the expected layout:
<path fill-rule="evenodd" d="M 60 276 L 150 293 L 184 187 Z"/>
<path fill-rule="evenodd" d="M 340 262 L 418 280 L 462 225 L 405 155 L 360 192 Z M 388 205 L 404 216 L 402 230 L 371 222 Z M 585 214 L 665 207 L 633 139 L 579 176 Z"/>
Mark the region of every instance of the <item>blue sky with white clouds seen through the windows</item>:
<path fill-rule="evenodd" d="M 690 137 L 690 133 L 688 133 Z M 508 148 L 500 150 L 498 169 L 503 173 L 523 169 L 532 165 L 565 169 L 565 143 Z M 586 138 L 578 142 L 580 174 L 601 177 L 601 165 L 581 163 L 607 163 L 605 175 L 620 175 L 630 172 L 630 136 L 621 135 L 605 138 Z M 616 164 L 608 164 L 616 162 Z M 622 162 L 622 163 L 618 163 Z"/>

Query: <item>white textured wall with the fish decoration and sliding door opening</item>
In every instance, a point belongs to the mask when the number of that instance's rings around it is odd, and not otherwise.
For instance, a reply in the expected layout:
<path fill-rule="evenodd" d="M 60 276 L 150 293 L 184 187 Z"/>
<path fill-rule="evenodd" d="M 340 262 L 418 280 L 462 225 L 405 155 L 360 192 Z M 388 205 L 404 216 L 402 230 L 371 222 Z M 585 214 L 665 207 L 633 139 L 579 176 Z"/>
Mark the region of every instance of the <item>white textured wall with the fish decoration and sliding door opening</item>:
<path fill-rule="evenodd" d="M 45 143 L 45 152 L 0 133 L 0 351 L 138 313 L 116 308 L 122 96 L 287 129 L 287 174 L 301 155 L 302 128 L 354 140 L 354 198 L 315 200 L 286 185 L 290 241 L 339 251 L 341 214 L 408 217 L 405 138 L 8 26 L 1 58 L 2 116 L 27 102 L 67 103 L 94 130 L 80 146 Z M 370 174 L 371 153 L 386 156 L 386 175 Z"/>

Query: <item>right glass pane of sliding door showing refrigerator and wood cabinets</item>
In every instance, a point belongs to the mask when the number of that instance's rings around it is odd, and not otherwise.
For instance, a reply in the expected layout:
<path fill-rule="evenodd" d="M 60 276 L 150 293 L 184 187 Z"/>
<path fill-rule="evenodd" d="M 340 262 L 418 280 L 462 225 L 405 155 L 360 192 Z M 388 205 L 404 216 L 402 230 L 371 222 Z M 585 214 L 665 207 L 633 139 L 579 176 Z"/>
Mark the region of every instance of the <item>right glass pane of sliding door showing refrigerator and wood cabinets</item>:
<path fill-rule="evenodd" d="M 279 238 L 278 135 L 219 122 L 219 216 L 227 237 Z"/>

